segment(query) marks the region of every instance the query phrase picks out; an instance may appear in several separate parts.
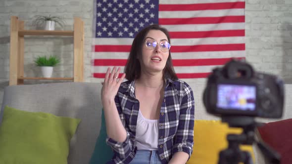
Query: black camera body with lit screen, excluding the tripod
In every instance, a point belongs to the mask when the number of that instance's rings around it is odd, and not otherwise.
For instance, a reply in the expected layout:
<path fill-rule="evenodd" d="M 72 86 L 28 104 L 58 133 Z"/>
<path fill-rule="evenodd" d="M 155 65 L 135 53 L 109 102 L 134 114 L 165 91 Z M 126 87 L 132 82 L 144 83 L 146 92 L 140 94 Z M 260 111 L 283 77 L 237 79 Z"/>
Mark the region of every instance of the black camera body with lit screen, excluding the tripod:
<path fill-rule="evenodd" d="M 213 69 L 207 79 L 203 103 L 209 114 L 281 118 L 284 107 L 284 82 L 255 72 L 243 60 L 232 59 Z"/>

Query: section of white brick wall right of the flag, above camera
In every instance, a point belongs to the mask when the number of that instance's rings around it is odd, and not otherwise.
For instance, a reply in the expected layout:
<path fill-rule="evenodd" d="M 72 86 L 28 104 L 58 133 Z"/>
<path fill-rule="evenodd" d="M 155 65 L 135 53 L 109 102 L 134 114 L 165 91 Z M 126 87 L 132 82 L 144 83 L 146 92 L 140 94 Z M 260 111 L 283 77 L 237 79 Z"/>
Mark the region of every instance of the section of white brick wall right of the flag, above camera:
<path fill-rule="evenodd" d="M 292 0 L 246 0 L 246 59 L 292 82 Z"/>

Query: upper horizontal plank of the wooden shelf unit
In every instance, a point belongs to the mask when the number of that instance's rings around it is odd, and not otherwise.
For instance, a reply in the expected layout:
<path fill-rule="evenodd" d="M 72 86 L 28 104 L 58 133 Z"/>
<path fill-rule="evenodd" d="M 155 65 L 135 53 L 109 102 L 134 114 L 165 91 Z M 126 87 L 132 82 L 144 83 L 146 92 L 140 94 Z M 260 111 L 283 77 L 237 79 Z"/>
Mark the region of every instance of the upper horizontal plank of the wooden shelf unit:
<path fill-rule="evenodd" d="M 25 36 L 25 35 L 73 36 L 74 31 L 19 30 L 18 35 L 19 36 Z"/>

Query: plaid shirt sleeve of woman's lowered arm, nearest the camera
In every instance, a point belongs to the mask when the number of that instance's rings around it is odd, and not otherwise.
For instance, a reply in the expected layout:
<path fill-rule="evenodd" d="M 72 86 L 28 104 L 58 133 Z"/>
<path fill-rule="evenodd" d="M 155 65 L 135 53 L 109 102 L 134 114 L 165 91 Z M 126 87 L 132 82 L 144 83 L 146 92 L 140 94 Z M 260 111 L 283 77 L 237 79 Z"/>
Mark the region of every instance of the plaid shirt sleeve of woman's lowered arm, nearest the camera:
<path fill-rule="evenodd" d="M 176 152 L 186 152 L 189 154 L 190 159 L 194 145 L 194 121 L 195 100 L 193 90 L 187 83 L 184 83 L 179 125 L 172 148 L 173 154 Z"/>

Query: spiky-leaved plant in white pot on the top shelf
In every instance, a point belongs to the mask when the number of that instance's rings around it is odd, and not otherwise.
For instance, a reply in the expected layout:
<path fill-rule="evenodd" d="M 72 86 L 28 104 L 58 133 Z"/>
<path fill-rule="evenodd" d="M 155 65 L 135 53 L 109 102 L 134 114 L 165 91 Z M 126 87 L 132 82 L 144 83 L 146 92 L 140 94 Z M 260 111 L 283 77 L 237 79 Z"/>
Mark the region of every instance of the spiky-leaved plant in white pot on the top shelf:
<path fill-rule="evenodd" d="M 55 30 L 55 24 L 58 24 L 60 27 L 64 27 L 66 24 L 65 20 L 60 16 L 43 16 L 36 15 L 32 21 L 33 26 L 44 27 L 45 30 Z"/>

